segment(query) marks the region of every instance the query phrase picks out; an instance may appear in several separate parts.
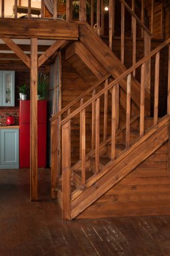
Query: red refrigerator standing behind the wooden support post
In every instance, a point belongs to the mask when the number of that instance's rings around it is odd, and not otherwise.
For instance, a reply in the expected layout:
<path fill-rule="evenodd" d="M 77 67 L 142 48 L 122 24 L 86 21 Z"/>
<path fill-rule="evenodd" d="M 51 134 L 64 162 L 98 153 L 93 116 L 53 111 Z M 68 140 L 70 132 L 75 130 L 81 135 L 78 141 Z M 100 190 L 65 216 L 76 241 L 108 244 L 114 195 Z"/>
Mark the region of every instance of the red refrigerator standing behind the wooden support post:
<path fill-rule="evenodd" d="M 38 167 L 46 167 L 46 100 L 38 100 Z M 30 100 L 19 103 L 19 166 L 30 167 Z"/>

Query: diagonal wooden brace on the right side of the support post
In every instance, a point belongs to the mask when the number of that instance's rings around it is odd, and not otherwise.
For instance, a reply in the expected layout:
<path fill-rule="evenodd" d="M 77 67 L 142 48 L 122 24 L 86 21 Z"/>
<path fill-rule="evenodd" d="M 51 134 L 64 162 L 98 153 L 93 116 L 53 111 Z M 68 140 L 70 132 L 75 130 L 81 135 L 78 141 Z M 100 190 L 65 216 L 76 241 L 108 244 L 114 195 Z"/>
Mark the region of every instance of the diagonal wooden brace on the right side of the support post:
<path fill-rule="evenodd" d="M 65 45 L 67 43 L 67 40 L 57 40 L 52 44 L 45 53 L 43 53 L 39 58 L 38 58 L 38 67 L 40 67 L 47 59 L 49 59 L 52 54 L 57 51 L 60 47 Z"/>

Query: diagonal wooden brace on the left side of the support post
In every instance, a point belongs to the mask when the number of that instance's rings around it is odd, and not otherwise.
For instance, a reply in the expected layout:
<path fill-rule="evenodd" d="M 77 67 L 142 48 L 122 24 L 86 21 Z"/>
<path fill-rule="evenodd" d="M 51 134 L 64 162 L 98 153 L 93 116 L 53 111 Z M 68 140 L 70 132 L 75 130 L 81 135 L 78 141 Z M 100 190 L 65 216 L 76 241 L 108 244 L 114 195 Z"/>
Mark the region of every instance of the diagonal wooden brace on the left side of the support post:
<path fill-rule="evenodd" d="M 21 59 L 28 67 L 30 67 L 30 58 L 22 51 L 22 49 L 11 40 L 11 38 L 1 38 L 5 44 Z"/>

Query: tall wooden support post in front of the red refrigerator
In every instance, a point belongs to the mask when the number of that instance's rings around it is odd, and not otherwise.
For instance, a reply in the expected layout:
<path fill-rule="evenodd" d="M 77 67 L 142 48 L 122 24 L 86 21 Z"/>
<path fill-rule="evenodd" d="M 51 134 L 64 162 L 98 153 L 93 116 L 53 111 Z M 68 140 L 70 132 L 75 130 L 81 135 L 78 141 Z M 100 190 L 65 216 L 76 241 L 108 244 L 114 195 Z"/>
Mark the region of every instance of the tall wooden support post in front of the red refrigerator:
<path fill-rule="evenodd" d="M 31 69 L 30 69 L 30 172 L 31 200 L 38 200 L 38 40 L 31 39 Z"/>

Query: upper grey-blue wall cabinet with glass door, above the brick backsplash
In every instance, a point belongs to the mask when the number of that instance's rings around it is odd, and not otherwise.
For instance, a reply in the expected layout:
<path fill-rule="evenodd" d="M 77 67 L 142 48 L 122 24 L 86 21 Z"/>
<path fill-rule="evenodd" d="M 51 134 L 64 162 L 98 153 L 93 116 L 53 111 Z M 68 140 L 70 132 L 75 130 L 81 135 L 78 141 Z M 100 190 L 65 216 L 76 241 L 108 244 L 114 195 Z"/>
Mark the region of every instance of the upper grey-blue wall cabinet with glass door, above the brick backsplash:
<path fill-rule="evenodd" d="M 15 106 L 15 71 L 0 71 L 0 106 Z"/>

